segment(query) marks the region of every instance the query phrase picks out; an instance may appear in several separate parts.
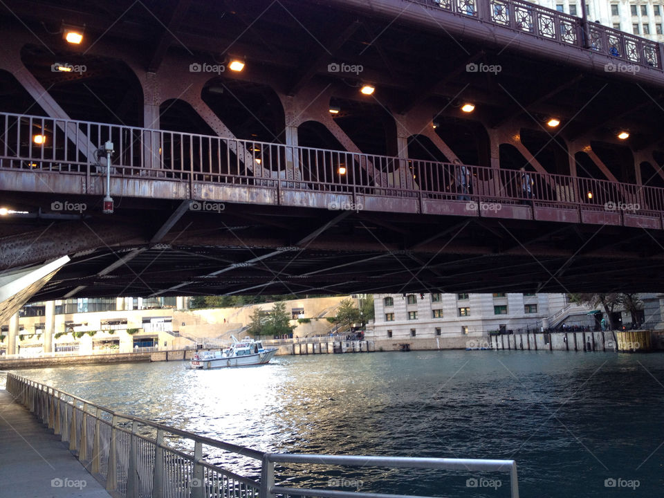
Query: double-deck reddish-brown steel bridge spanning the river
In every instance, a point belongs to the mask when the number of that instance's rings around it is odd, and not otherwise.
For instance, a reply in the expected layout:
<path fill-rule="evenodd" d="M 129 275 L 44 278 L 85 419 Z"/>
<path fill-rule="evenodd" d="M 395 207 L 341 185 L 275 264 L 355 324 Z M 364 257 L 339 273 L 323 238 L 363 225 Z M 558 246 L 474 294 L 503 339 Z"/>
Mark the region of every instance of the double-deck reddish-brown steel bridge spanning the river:
<path fill-rule="evenodd" d="M 660 44 L 516 0 L 7 1 L 0 26 L 0 270 L 70 257 L 33 299 L 659 290 Z"/>

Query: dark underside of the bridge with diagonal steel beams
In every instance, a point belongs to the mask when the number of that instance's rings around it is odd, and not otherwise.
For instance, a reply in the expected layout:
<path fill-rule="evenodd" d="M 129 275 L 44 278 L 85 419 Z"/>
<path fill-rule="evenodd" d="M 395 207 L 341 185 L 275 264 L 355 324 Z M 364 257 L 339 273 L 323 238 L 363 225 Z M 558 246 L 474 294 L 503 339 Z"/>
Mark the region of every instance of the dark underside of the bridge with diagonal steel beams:
<path fill-rule="evenodd" d="M 233 203 L 178 213 L 182 205 L 169 201 L 122 202 L 112 219 L 44 219 L 37 229 L 34 219 L 14 219 L 6 258 L 71 255 L 33 299 L 658 291 L 664 270 L 661 230 Z"/>

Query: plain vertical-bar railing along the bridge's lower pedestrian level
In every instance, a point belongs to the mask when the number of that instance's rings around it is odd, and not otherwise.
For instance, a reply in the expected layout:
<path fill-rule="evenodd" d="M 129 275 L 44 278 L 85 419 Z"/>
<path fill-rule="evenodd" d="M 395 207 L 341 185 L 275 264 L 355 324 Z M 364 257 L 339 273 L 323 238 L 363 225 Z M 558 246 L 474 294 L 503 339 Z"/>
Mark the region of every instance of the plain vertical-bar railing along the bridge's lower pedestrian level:
<path fill-rule="evenodd" d="M 107 140 L 114 178 L 326 192 L 357 203 L 382 196 L 664 214 L 660 187 L 11 113 L 0 113 L 0 168 L 79 175 L 89 185 L 105 169 L 96 151 Z"/>

